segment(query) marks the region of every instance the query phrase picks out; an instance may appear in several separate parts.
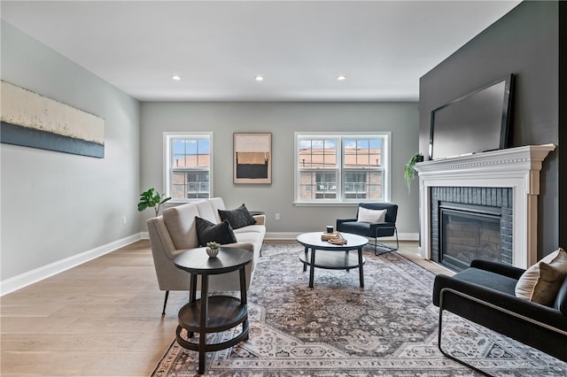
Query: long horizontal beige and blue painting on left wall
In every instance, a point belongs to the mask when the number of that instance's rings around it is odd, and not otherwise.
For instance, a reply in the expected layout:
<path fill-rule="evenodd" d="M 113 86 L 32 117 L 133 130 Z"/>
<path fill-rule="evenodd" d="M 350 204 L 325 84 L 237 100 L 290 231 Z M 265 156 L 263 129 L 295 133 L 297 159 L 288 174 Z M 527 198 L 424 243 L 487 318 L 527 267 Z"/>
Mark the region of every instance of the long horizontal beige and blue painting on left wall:
<path fill-rule="evenodd" d="M 105 157 L 105 119 L 2 81 L 0 142 Z"/>

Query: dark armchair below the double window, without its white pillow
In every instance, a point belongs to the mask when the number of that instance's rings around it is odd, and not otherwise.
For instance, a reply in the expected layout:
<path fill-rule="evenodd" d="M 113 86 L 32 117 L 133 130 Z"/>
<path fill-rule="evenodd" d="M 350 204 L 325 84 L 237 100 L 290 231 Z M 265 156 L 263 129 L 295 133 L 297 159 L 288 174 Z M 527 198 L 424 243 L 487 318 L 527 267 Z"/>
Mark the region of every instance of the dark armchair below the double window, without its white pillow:
<path fill-rule="evenodd" d="M 368 222 L 358 222 L 358 212 L 360 208 L 367 208 L 369 210 L 386 210 L 384 222 L 371 224 Z M 352 219 L 337 219 L 338 232 L 353 233 L 354 235 L 362 235 L 369 238 L 374 238 L 374 254 L 377 255 L 377 247 L 383 248 L 387 251 L 395 251 L 400 248 L 398 241 L 398 229 L 396 228 L 396 218 L 398 217 L 398 205 L 391 203 L 361 203 L 358 204 L 356 217 Z M 378 243 L 377 239 L 380 237 L 396 237 L 396 247 L 386 246 L 384 243 Z"/>

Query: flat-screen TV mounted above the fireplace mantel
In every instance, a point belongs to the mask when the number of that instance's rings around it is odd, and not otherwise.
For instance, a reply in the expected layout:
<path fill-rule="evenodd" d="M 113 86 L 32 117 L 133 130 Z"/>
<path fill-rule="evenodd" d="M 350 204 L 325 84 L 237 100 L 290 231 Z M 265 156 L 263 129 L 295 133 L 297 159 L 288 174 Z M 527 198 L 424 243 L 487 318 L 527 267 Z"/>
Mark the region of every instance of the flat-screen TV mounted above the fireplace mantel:
<path fill-rule="evenodd" d="M 431 112 L 429 158 L 451 158 L 509 147 L 514 75 Z"/>

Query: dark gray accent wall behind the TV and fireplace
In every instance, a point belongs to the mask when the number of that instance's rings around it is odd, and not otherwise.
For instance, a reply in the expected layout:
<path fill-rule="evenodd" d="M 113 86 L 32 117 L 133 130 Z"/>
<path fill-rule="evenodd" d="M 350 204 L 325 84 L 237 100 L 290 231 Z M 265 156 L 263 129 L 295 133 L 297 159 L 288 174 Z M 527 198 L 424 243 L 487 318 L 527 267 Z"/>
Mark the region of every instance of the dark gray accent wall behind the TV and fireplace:
<path fill-rule="evenodd" d="M 564 211 L 567 180 L 559 181 L 560 137 L 563 141 L 566 137 L 564 130 L 560 132 L 560 115 L 563 121 L 567 119 L 567 85 L 560 88 L 559 81 L 560 35 L 563 41 L 567 40 L 564 38 L 565 21 L 560 33 L 560 14 L 565 15 L 564 8 L 565 4 L 558 2 L 524 1 L 420 79 L 419 150 L 427 156 L 431 110 L 506 74 L 516 75 L 511 146 L 557 145 L 544 161 L 540 177 L 540 257 L 559 245 L 567 247 Z M 563 48 L 563 58 L 565 49 L 567 47 Z M 565 70 L 563 68 L 563 73 Z M 560 207 L 563 208 L 561 222 Z M 560 240 L 560 237 L 563 238 Z"/>

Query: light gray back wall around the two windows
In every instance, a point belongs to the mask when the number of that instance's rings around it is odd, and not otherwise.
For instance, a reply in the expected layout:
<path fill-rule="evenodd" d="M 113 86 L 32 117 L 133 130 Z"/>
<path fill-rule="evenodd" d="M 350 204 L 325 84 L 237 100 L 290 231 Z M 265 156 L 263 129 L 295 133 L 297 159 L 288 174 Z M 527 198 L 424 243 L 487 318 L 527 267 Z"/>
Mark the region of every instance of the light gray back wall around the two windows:
<path fill-rule="evenodd" d="M 417 185 L 411 195 L 403 179 L 408 159 L 418 149 L 419 114 L 416 103 L 144 103 L 141 105 L 141 189 L 163 190 L 163 133 L 214 133 L 214 196 L 227 208 L 245 203 L 266 212 L 270 234 L 319 231 L 335 219 L 352 217 L 353 206 L 293 205 L 293 155 L 296 131 L 391 131 L 392 202 L 399 204 L 398 230 L 418 233 Z M 232 135 L 235 132 L 272 133 L 272 184 L 235 185 L 232 182 Z M 275 214 L 281 219 L 276 220 Z M 145 230 L 144 220 L 141 230 Z"/>

